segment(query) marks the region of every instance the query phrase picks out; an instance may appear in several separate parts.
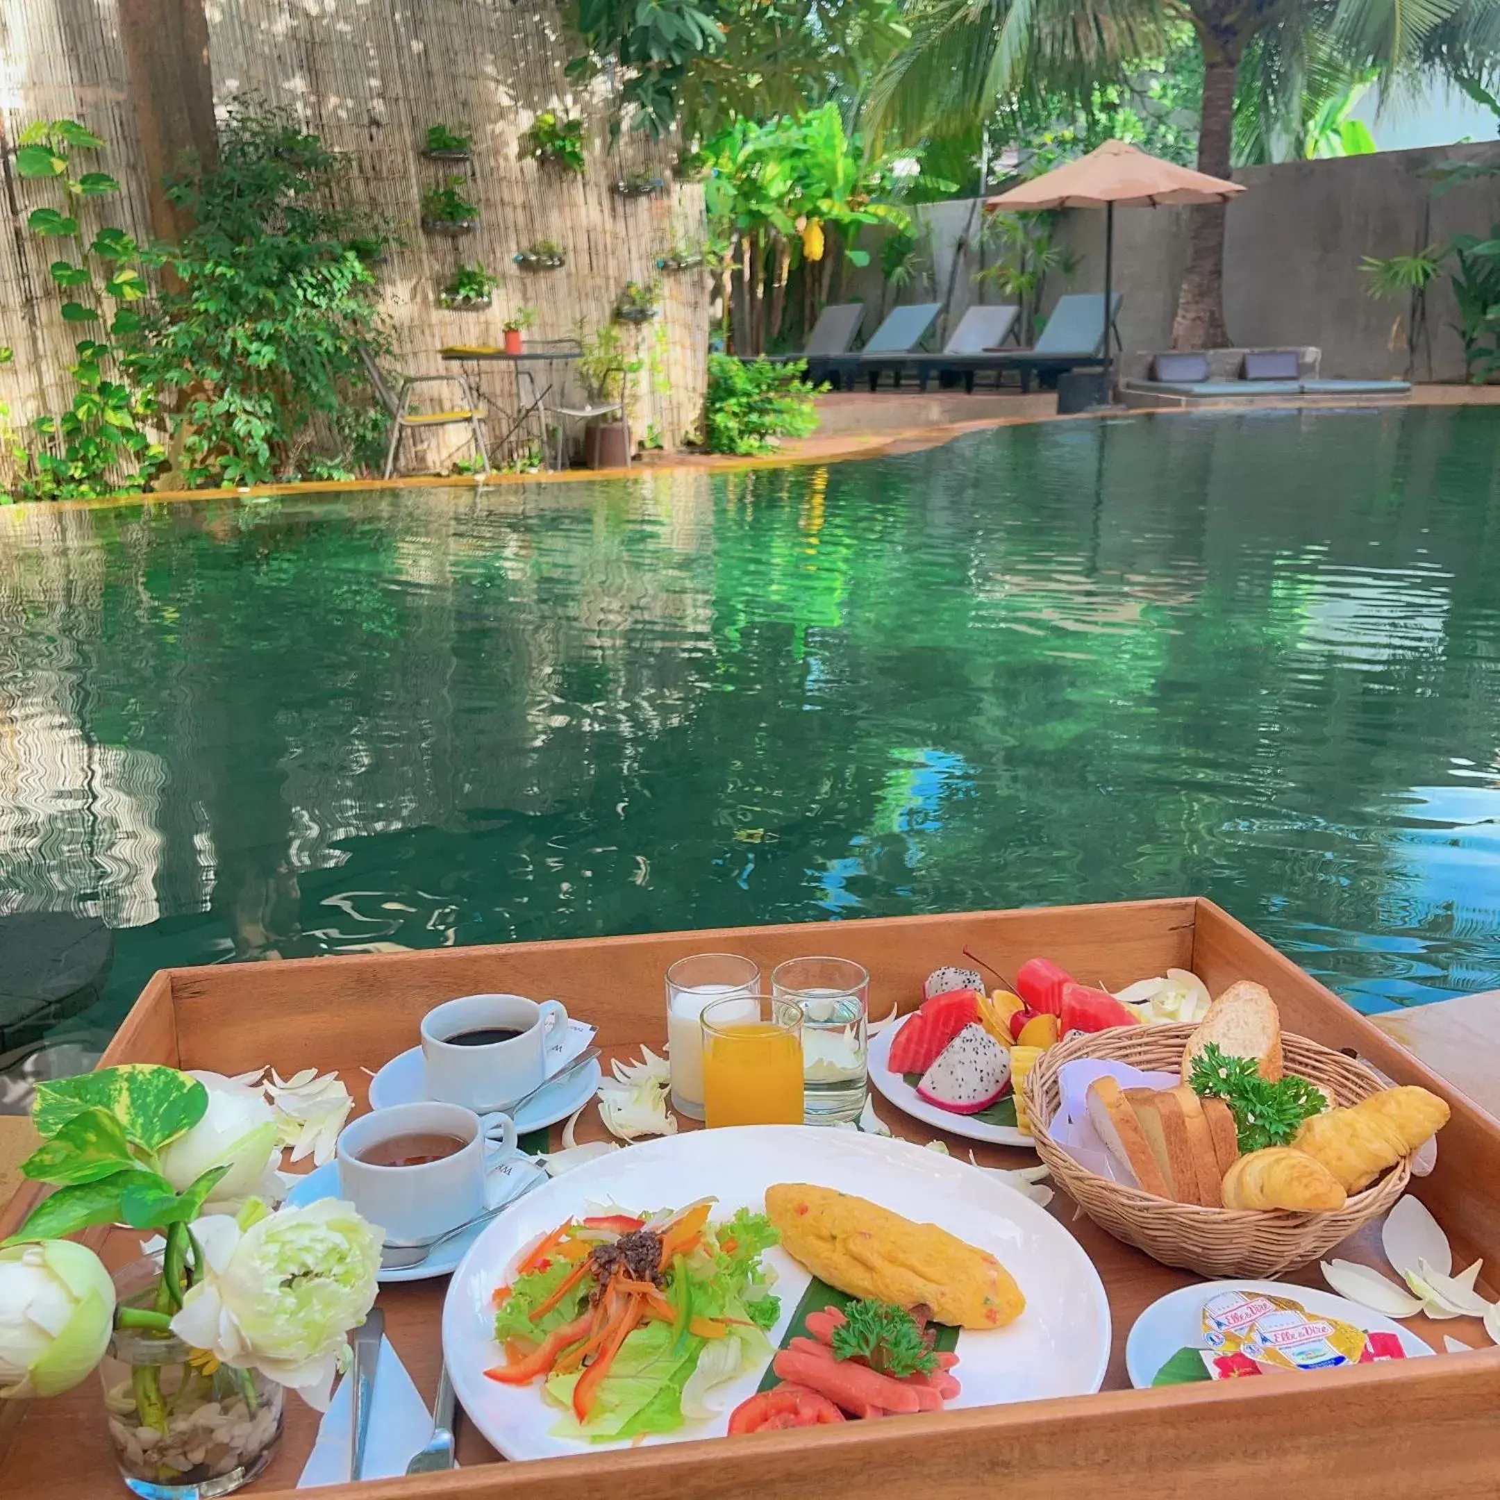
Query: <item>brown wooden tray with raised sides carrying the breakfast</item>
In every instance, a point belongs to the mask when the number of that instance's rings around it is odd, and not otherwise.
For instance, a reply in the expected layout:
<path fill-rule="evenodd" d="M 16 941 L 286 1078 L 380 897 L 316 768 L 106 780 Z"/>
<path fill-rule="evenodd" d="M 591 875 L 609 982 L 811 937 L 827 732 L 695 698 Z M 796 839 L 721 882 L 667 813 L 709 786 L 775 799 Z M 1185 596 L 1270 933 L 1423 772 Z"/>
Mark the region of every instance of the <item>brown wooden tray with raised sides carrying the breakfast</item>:
<path fill-rule="evenodd" d="M 1194 969 L 1215 993 L 1234 980 L 1258 980 L 1275 994 L 1288 1030 L 1353 1048 L 1400 1082 L 1420 1083 L 1449 1100 L 1454 1118 L 1440 1137 L 1437 1172 L 1418 1180 L 1414 1191 L 1448 1230 L 1460 1264 L 1473 1256 L 1490 1263 L 1500 1256 L 1500 1125 L 1248 928 L 1194 898 L 170 969 L 141 993 L 105 1062 L 165 1062 L 219 1072 L 273 1064 L 284 1074 L 315 1064 L 339 1070 L 363 1104 L 368 1076 L 362 1070 L 378 1068 L 412 1046 L 423 1011 L 456 994 L 554 994 L 598 1026 L 602 1047 L 628 1052 L 642 1041 L 663 1041 L 663 970 L 690 952 L 744 952 L 762 972 L 806 952 L 855 958 L 872 974 L 870 1011 L 882 1016 L 892 1002 L 912 1010 L 926 975 L 940 963 L 963 962 L 964 944 L 1005 974 L 1034 954 L 1047 954 L 1080 980 L 1114 987 L 1170 966 Z M 897 1134 L 932 1138 L 930 1130 L 884 1101 L 879 1107 Z M 597 1134 L 590 1110 L 579 1136 Z M 950 1144 L 969 1149 L 956 1137 Z M 1030 1152 L 975 1149 L 981 1162 L 993 1166 L 1035 1161 Z M 0 1233 L 20 1222 L 30 1200 L 32 1190 L 22 1188 L 0 1214 Z M 370 1480 L 321 1492 L 330 1500 L 418 1492 L 434 1500 L 591 1500 L 608 1492 L 628 1492 L 632 1500 L 826 1500 L 844 1491 L 903 1500 L 976 1494 L 1092 1500 L 1104 1488 L 1120 1500 L 1494 1496 L 1500 1484 L 1500 1348 L 1490 1347 L 1478 1320 L 1410 1320 L 1438 1352 L 1444 1334 L 1476 1347 L 1461 1356 L 1130 1390 L 1124 1347 L 1137 1314 L 1198 1278 L 1110 1239 L 1060 1194 L 1052 1210 L 1088 1250 L 1108 1290 L 1114 1342 L 1098 1395 L 525 1464 L 502 1462 L 460 1422 L 459 1460 L 466 1467 L 420 1482 Z M 134 1245 L 135 1236 L 110 1232 L 102 1252 L 118 1263 L 132 1258 Z M 1371 1230 L 1340 1254 L 1382 1263 Z M 1293 1280 L 1312 1284 L 1317 1268 Z M 436 1386 L 446 1286 L 386 1287 L 380 1298 L 390 1338 L 428 1401 Z M 246 1491 L 262 1500 L 288 1500 L 316 1432 L 315 1414 L 298 1400 L 290 1398 L 286 1410 L 280 1450 Z M 10 1413 L 9 1425 L 10 1446 L 0 1456 L 4 1494 L 96 1500 L 126 1492 L 92 1382 L 66 1396 L 32 1402 L 20 1420 Z"/>

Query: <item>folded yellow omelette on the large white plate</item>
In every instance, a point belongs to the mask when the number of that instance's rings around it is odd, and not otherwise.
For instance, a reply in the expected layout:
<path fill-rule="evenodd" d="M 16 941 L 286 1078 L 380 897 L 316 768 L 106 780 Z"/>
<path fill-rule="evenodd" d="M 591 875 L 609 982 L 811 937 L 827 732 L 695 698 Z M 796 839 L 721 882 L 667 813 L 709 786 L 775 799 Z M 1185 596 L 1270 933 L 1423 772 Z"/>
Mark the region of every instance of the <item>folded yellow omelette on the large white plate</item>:
<path fill-rule="evenodd" d="M 765 1190 L 765 1212 L 782 1232 L 782 1248 L 849 1296 L 904 1308 L 924 1302 L 934 1322 L 956 1328 L 1004 1328 L 1026 1308 L 993 1256 L 868 1198 L 778 1182 Z"/>

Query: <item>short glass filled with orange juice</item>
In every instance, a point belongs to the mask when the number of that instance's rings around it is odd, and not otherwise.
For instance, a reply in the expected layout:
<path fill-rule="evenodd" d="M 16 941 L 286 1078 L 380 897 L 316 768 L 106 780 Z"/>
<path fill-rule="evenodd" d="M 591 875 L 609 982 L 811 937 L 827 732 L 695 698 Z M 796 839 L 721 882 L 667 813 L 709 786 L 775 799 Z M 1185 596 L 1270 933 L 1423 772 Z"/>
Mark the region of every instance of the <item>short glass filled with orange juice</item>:
<path fill-rule="evenodd" d="M 704 1006 L 704 1124 L 802 1124 L 802 1008 L 771 994 Z"/>

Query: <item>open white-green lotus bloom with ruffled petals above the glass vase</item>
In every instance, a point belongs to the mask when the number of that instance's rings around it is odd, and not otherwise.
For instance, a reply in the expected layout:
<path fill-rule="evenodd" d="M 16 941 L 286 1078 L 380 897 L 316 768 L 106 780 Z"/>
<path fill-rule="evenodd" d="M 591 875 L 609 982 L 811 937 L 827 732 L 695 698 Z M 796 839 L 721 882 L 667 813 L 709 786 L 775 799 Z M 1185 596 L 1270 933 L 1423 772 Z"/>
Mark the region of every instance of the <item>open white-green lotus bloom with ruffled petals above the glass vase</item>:
<path fill-rule="evenodd" d="M 278 1209 L 248 1228 L 222 1214 L 192 1228 L 207 1272 L 172 1332 L 326 1412 L 346 1335 L 375 1304 L 381 1232 L 338 1198 Z"/>

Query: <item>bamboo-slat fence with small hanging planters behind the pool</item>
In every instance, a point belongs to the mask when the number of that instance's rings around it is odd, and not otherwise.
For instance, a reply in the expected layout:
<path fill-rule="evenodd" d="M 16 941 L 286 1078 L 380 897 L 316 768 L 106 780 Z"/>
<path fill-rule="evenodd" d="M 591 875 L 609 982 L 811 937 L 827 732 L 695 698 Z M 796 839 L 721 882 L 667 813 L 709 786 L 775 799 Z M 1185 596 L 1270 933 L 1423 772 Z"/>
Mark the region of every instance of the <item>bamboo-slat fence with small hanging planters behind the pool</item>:
<path fill-rule="evenodd" d="M 609 135 L 609 81 L 578 88 L 564 76 L 576 50 L 556 0 L 206 0 L 214 99 L 254 92 L 294 108 L 306 129 L 350 159 L 348 192 L 400 243 L 378 267 L 399 362 L 410 374 L 440 374 L 448 344 L 501 342 L 501 322 L 536 310 L 531 338 L 592 334 L 610 321 L 626 282 L 662 279 L 660 314 L 639 328 L 621 324 L 627 351 L 642 360 L 634 381 L 633 432 L 675 447 L 698 420 L 705 380 L 710 278 L 702 268 L 658 273 L 674 244 L 700 243 L 702 190 L 674 177 L 676 142 L 626 129 Z M 582 177 L 520 159 L 520 138 L 543 110 L 585 120 Z M 68 246 L 38 240 L 26 216 L 56 198 L 51 184 L 21 182 L 15 136 L 38 118 L 74 117 L 108 148 L 88 153 L 120 195 L 84 204 L 86 232 L 117 224 L 150 236 L 147 183 L 129 104 L 116 0 L 4 0 L 0 8 L 0 146 L 4 216 L 0 236 L 0 344 L 15 362 L 0 368 L 0 400 L 12 424 L 66 405 L 76 330 L 58 315 L 48 264 Z M 471 134 L 472 160 L 422 156 L 428 128 Z M 650 171 L 668 188 L 626 198 L 614 183 Z M 466 177 L 480 208 L 476 232 L 440 238 L 420 226 L 420 198 L 446 174 Z M 567 266 L 522 272 L 512 260 L 554 240 Z M 60 249 L 62 246 L 62 249 Z M 444 309 L 438 294 L 460 264 L 480 261 L 501 278 L 483 312 Z M 502 402 L 514 388 L 504 366 L 482 384 Z M 578 394 L 576 384 L 572 390 Z M 498 432 L 492 430 L 492 436 Z M 456 441 L 456 440 L 454 440 Z M 447 452 L 418 454 L 429 465 Z M 408 464 L 411 456 L 408 454 Z"/>

